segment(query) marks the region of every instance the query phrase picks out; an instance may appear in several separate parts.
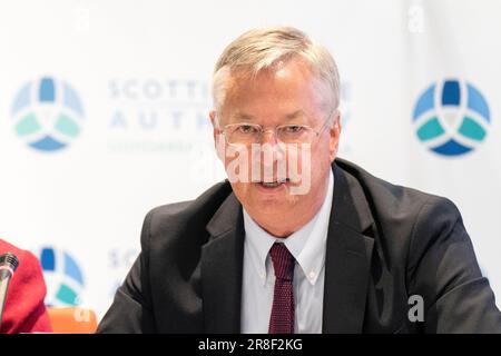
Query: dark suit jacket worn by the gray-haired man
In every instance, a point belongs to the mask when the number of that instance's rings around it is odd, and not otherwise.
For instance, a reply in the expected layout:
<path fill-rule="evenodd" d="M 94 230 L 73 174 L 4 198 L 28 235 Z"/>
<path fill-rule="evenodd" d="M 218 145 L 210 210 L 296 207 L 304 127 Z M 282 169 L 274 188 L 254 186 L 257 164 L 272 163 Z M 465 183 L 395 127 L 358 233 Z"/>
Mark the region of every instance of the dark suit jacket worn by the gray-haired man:
<path fill-rule="evenodd" d="M 461 215 L 448 199 L 336 159 L 324 333 L 501 333 Z M 227 181 L 145 219 L 141 253 L 101 333 L 239 333 L 242 206 Z M 424 301 L 424 322 L 407 316 Z M 412 313 L 414 315 L 414 313 Z"/>

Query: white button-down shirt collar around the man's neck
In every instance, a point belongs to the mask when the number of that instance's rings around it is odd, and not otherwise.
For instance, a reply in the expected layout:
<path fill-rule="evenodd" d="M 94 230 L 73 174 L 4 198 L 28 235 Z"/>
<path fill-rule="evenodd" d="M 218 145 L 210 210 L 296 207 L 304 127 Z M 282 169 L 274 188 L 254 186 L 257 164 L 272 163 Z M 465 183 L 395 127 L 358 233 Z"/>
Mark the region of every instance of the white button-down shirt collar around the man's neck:
<path fill-rule="evenodd" d="M 314 285 L 325 265 L 325 244 L 327 240 L 328 220 L 331 216 L 334 191 L 334 175 L 330 170 L 327 194 L 318 212 L 299 230 L 285 239 L 277 238 L 244 212 L 245 248 L 249 249 L 250 263 L 259 274 L 263 285 L 266 283 L 266 258 L 276 241 L 284 243 L 296 259 L 310 284 Z"/>

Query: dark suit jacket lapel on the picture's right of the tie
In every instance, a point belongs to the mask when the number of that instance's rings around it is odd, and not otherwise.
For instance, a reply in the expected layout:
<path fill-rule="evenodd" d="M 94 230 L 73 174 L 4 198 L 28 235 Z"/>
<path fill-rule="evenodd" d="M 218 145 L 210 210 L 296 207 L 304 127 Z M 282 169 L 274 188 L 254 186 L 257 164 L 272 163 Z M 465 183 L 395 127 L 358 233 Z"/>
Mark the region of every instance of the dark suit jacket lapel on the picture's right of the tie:
<path fill-rule="evenodd" d="M 323 333 L 362 333 L 374 226 L 358 181 L 337 165 L 328 225 Z"/>

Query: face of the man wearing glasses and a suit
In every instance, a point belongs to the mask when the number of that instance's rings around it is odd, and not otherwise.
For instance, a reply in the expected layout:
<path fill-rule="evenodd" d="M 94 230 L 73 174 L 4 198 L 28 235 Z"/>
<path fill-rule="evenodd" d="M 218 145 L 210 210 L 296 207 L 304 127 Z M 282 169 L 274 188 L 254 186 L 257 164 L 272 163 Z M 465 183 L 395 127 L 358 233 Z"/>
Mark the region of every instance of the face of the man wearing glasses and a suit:
<path fill-rule="evenodd" d="M 232 165 L 228 157 L 225 159 L 222 155 L 220 144 L 225 138 L 216 127 L 224 128 L 227 125 L 246 122 L 261 125 L 265 129 L 258 144 L 271 148 L 272 156 L 264 157 L 261 152 L 257 154 L 261 155 L 261 160 L 256 160 L 256 152 L 248 149 L 247 157 L 252 161 L 248 165 L 248 175 L 245 175 L 247 179 L 242 179 L 245 181 L 229 179 L 236 197 L 258 222 L 307 216 L 312 209 L 316 211 L 324 200 L 328 170 L 337 152 L 341 126 L 336 113 L 327 109 L 331 106 L 322 88 L 306 63 L 291 60 L 276 71 L 263 71 L 254 78 L 233 73 L 227 80 L 226 96 L 217 120 L 215 112 L 210 113 L 215 125 L 216 147 L 219 145 L 219 158 L 223 159 L 228 176 L 235 165 Z M 330 120 L 326 126 L 325 120 Z M 312 139 L 307 145 L 310 150 L 302 149 L 301 146 L 299 149 L 292 150 L 281 144 L 273 129 L 283 125 L 311 127 Z M 320 135 L 316 135 L 318 131 Z M 256 161 L 261 174 L 257 175 L 258 179 L 256 176 L 253 179 L 250 171 L 254 169 L 255 172 Z M 296 170 L 303 177 L 303 185 L 305 177 L 310 179 L 306 191 L 303 189 L 297 194 L 301 190 L 297 187 L 302 182 L 294 179 L 278 186 L 273 185 L 284 178 L 292 178 L 289 176 L 292 165 L 297 166 Z M 278 166 L 287 167 L 285 177 L 283 171 L 279 172 Z M 265 175 L 265 171 L 272 174 Z"/>

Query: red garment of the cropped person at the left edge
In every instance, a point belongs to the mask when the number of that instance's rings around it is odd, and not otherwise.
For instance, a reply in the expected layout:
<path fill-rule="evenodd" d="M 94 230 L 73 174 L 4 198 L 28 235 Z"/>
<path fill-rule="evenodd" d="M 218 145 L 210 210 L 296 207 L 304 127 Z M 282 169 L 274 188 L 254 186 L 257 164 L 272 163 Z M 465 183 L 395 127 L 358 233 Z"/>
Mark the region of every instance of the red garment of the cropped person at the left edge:
<path fill-rule="evenodd" d="M 19 266 L 10 280 L 0 333 L 50 333 L 52 328 L 43 304 L 47 289 L 40 263 L 31 253 L 0 239 L 0 255 L 4 253 L 16 254 Z"/>

